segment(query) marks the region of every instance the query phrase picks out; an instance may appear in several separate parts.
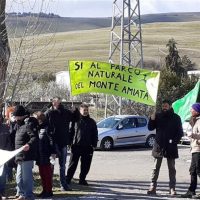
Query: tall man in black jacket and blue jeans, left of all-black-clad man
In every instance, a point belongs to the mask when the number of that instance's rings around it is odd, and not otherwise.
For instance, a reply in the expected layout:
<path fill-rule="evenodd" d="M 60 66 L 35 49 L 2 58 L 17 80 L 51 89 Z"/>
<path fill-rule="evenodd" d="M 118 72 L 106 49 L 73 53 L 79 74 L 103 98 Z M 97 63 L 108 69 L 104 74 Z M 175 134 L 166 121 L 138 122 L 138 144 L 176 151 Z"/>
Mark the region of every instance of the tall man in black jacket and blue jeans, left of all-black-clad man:
<path fill-rule="evenodd" d="M 73 121 L 73 114 L 64 108 L 59 97 L 52 100 L 52 109 L 46 113 L 49 133 L 52 134 L 53 142 L 60 166 L 60 186 L 62 191 L 71 190 L 65 179 L 65 164 L 67 161 L 67 145 L 69 144 L 69 127 Z"/>

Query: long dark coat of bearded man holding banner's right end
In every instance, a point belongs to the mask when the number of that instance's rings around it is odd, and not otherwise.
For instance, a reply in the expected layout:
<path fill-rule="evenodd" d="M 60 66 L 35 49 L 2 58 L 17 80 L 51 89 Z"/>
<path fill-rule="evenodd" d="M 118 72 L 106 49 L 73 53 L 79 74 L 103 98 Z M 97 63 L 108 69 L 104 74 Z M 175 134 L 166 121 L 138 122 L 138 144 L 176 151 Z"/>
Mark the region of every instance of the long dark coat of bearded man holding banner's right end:
<path fill-rule="evenodd" d="M 148 129 L 156 129 L 156 143 L 164 157 L 178 158 L 177 144 L 183 135 L 183 129 L 180 117 L 172 109 L 156 114 L 155 120 L 149 120 Z"/>

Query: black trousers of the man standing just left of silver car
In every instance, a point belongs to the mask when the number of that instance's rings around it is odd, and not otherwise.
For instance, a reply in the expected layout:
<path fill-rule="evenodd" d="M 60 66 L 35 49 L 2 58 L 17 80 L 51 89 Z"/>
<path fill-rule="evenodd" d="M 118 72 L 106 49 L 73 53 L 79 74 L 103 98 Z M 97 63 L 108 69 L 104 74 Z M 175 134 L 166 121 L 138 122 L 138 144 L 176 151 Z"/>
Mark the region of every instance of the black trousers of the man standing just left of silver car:
<path fill-rule="evenodd" d="M 79 158 L 81 158 L 81 170 L 79 178 L 85 180 L 92 162 L 93 148 L 91 146 L 78 146 L 73 145 L 71 149 L 71 156 L 69 161 L 69 167 L 67 170 L 67 180 L 70 182 L 76 171 Z"/>

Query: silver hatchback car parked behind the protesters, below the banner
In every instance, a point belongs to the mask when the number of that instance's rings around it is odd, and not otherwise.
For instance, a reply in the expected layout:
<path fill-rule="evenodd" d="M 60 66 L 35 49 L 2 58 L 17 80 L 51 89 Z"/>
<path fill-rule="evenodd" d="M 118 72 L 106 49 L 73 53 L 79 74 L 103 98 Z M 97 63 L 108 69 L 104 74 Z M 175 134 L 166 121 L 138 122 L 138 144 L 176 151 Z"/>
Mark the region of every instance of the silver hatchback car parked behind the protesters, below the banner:
<path fill-rule="evenodd" d="M 113 147 L 145 144 L 152 147 L 155 131 L 147 128 L 148 118 L 138 115 L 116 115 L 97 123 L 97 148 L 110 150 Z"/>

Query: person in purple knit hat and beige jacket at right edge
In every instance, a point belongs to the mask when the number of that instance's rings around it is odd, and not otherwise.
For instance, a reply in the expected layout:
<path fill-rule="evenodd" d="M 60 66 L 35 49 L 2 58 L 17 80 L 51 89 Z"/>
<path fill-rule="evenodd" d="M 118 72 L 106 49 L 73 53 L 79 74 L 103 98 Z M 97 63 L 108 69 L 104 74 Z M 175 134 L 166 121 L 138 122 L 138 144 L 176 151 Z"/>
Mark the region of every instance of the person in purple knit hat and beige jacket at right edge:
<path fill-rule="evenodd" d="M 200 177 L 200 103 L 195 103 L 191 108 L 190 125 L 192 126 L 192 132 L 188 133 L 188 137 L 191 138 L 191 153 L 192 162 L 190 165 L 190 177 L 191 182 L 188 191 L 182 195 L 183 198 L 200 198 L 200 195 L 196 195 L 197 188 L 197 176 Z"/>

